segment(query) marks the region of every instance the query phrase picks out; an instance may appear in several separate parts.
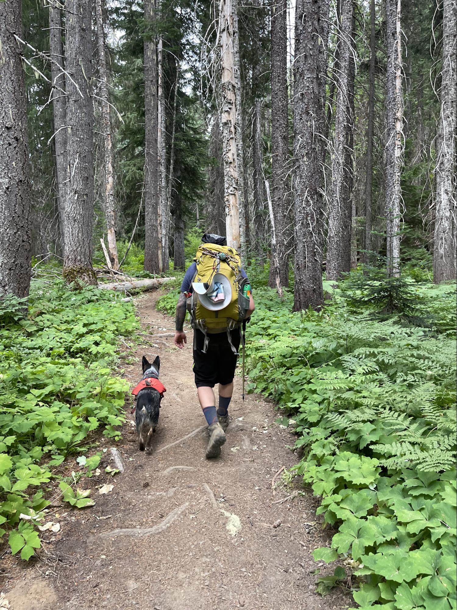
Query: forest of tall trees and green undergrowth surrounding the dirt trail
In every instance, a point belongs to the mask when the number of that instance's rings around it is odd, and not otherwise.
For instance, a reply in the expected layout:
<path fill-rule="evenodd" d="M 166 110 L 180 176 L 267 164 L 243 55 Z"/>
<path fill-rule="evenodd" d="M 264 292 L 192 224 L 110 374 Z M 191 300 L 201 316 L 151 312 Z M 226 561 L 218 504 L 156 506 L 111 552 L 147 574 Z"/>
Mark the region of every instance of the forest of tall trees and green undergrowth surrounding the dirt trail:
<path fill-rule="evenodd" d="M 100 458 L 55 468 L 119 438 L 139 321 L 99 288 L 163 284 L 172 314 L 217 232 L 256 301 L 248 389 L 332 538 L 318 592 L 455 608 L 456 21 L 455 0 L 0 0 L 11 553 L 40 553 L 49 481 L 91 505 Z"/>

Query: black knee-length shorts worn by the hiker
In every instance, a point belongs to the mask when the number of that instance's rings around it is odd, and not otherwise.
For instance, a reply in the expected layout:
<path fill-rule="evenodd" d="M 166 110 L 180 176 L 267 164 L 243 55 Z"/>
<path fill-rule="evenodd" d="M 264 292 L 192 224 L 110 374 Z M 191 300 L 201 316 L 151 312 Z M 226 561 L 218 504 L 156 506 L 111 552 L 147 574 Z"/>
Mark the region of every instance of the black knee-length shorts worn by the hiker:
<path fill-rule="evenodd" d="M 239 328 L 231 331 L 233 347 L 239 349 Z M 199 329 L 194 329 L 194 375 L 197 387 L 222 386 L 233 381 L 237 356 L 228 343 L 227 332 L 208 334 L 210 337 L 207 353 L 203 353 L 205 335 Z"/>

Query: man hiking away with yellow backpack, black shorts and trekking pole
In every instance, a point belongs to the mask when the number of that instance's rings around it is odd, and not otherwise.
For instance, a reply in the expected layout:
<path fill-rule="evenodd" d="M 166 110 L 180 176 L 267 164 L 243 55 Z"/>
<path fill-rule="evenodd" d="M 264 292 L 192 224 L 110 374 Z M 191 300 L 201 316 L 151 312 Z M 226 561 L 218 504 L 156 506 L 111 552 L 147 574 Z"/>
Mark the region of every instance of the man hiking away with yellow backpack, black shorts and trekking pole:
<path fill-rule="evenodd" d="M 255 309 L 249 279 L 235 248 L 221 235 L 205 234 L 184 276 L 176 306 L 174 343 L 186 343 L 183 323 L 190 312 L 194 329 L 194 376 L 200 406 L 208 422 L 207 458 L 221 453 L 228 427 L 242 325 Z M 216 411 L 214 386 L 219 384 Z"/>

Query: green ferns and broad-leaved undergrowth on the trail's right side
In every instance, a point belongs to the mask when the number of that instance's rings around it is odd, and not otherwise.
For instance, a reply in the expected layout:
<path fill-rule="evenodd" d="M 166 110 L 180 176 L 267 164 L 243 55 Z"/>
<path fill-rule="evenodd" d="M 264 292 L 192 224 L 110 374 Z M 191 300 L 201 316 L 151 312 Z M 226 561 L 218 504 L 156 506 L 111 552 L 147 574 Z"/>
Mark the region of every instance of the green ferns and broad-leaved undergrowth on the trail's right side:
<path fill-rule="evenodd" d="M 267 287 L 267 267 L 248 274 L 248 388 L 275 401 L 278 423 L 293 420 L 293 472 L 332 534 L 314 551 L 338 561 L 319 592 L 349 587 L 362 608 L 456 608 L 455 284 L 417 266 L 390 280 L 359 270 L 324 282 L 324 310 L 298 314 L 291 293 Z M 158 307 L 172 313 L 176 298 Z"/>

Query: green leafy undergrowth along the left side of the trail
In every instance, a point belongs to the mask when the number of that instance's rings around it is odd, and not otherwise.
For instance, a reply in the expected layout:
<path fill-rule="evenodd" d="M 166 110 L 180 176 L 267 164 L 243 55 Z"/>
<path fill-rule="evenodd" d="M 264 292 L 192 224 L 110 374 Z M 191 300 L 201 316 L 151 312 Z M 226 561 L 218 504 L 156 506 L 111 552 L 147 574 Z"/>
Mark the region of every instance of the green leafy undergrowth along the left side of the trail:
<path fill-rule="evenodd" d="M 118 337 L 131 335 L 137 321 L 118 296 L 72 291 L 60 280 L 32 282 L 26 317 L 23 306 L 4 301 L 0 320 L 0 524 L 13 553 L 29 559 L 39 547 L 34 518 L 49 504 L 40 489 L 49 468 L 96 429 L 119 437 L 128 384 L 109 365 Z M 87 463 L 96 467 L 93 458 Z M 88 505 L 78 493 L 69 488 L 64 499 Z"/>

